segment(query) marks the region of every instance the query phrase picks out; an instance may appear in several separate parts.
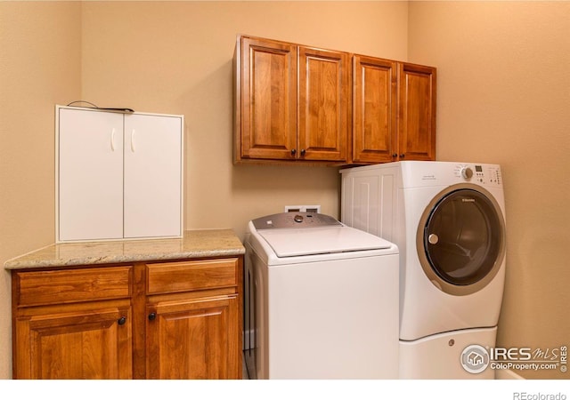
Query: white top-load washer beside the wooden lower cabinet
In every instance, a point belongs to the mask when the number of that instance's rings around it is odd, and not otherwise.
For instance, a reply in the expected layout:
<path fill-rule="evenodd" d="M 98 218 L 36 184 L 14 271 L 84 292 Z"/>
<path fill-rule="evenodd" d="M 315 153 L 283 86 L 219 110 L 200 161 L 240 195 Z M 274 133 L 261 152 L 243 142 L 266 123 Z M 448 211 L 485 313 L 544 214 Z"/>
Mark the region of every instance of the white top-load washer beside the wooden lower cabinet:
<path fill-rule="evenodd" d="M 284 212 L 250 221 L 245 245 L 256 378 L 398 377 L 395 244 Z"/>

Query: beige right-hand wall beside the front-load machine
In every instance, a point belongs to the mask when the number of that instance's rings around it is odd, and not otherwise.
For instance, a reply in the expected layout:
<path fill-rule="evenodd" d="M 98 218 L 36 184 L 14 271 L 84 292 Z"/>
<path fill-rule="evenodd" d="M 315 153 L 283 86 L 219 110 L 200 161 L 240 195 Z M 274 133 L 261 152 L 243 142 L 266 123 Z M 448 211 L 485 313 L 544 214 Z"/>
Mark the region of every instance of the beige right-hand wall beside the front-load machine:
<path fill-rule="evenodd" d="M 569 21 L 568 2 L 410 4 L 409 56 L 438 67 L 438 158 L 502 165 L 508 348 L 570 345 Z"/>

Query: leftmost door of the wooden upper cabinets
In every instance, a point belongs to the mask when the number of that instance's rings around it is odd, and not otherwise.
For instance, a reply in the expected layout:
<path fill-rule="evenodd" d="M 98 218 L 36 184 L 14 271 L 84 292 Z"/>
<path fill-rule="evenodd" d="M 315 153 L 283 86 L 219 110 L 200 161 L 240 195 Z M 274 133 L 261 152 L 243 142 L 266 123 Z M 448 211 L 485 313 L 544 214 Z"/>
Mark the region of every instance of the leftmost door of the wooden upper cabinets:
<path fill-rule="evenodd" d="M 238 98 L 243 158 L 294 159 L 297 148 L 296 46 L 241 38 Z M 240 93 L 239 93 L 240 91 Z"/>

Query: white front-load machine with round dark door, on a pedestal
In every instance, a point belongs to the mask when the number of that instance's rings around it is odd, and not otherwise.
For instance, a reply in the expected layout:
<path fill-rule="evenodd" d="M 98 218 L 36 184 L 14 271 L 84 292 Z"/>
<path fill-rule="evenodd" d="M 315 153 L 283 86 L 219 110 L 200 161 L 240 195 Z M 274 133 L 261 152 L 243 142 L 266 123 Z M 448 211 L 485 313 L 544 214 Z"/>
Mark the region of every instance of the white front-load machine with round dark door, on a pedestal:
<path fill-rule="evenodd" d="M 467 343 L 495 344 L 505 276 L 501 167 L 408 161 L 342 173 L 341 220 L 400 249 L 401 377 L 492 377 L 461 357 Z"/>

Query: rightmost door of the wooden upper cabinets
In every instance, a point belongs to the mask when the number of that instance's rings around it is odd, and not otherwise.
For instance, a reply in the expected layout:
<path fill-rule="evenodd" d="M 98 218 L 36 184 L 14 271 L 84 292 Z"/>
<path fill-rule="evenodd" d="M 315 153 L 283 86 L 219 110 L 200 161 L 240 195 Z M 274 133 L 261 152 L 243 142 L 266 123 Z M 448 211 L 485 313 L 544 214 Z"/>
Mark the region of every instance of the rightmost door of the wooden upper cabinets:
<path fill-rule="evenodd" d="M 398 75 L 398 156 L 435 160 L 436 68 L 401 63 Z"/>

